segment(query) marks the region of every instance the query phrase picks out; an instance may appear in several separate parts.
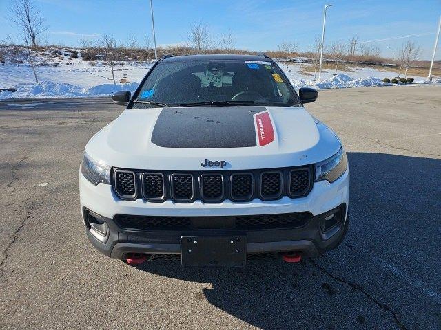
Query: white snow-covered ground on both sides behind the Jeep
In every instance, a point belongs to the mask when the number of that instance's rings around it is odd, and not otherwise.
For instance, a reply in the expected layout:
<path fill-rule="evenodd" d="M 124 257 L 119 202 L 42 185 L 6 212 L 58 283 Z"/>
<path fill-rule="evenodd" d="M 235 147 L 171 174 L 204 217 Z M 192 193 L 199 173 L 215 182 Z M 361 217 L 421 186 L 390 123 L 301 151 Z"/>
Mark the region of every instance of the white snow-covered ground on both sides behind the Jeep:
<path fill-rule="evenodd" d="M 0 65 L 0 89 L 13 87 L 17 91 L 2 91 L 2 98 L 56 98 L 107 96 L 115 91 L 134 91 L 145 73 L 153 65 L 153 61 L 121 61 L 114 67 L 113 84 L 110 67 L 103 61 L 83 61 L 70 58 L 65 52 L 47 61 L 48 65 L 37 67 L 39 83 L 34 83 L 32 69 L 26 64 L 4 63 Z M 57 66 L 54 64 L 57 63 Z M 322 72 L 321 81 L 314 81 L 314 76 L 302 74 L 301 63 L 279 63 L 291 83 L 297 88 L 314 87 L 316 89 L 369 87 L 392 85 L 383 83 L 383 78 L 393 78 L 396 72 L 380 71 L 369 67 L 352 68 L 350 72 L 340 72 L 333 76 L 333 70 Z M 413 76 L 416 81 L 424 77 Z"/>

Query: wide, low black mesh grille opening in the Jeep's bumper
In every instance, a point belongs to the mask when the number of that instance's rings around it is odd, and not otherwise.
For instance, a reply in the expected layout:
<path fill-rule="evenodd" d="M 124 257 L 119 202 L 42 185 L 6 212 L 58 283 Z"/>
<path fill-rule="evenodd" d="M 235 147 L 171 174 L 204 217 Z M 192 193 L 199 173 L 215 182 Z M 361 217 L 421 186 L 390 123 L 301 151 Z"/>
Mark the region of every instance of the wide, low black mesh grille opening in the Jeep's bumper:
<path fill-rule="evenodd" d="M 123 230 L 260 230 L 300 228 L 311 218 L 310 212 L 234 217 L 144 217 L 117 214 L 114 221 Z"/>

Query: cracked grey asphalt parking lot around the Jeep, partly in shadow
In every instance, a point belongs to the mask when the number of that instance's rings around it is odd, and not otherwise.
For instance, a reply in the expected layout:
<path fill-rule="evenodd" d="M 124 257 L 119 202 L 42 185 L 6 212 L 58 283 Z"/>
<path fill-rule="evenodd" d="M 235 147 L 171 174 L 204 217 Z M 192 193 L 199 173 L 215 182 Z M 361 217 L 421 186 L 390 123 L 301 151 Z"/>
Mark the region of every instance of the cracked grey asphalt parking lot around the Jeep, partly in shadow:
<path fill-rule="evenodd" d="M 130 267 L 81 223 L 85 143 L 110 99 L 0 102 L 1 329 L 441 329 L 441 87 L 320 91 L 347 147 L 351 223 L 302 263 Z"/>

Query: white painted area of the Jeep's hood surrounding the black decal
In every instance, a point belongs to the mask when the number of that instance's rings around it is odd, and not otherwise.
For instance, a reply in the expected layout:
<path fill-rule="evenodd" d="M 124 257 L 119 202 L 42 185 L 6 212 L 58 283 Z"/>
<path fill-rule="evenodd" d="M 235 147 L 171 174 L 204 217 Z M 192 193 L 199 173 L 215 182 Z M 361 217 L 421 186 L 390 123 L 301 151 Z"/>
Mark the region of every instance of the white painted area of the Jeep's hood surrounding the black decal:
<path fill-rule="evenodd" d="M 119 168 L 218 170 L 201 167 L 205 159 L 218 159 L 227 161 L 223 170 L 247 170 L 314 164 L 341 148 L 338 137 L 304 108 L 266 108 L 271 115 L 275 137 L 266 146 L 163 148 L 151 141 L 163 108 L 148 108 L 123 111 L 119 118 L 92 137 L 85 151 L 97 162 Z M 223 107 L 218 110 L 223 111 Z"/>

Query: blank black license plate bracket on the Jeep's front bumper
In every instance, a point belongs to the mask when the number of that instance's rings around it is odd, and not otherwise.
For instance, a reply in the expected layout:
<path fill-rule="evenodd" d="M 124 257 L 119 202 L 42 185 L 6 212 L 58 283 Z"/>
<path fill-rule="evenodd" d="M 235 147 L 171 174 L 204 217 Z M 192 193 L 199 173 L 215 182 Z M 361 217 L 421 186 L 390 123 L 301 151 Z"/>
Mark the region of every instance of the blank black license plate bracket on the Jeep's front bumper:
<path fill-rule="evenodd" d="M 185 267 L 243 267 L 246 261 L 245 236 L 181 236 Z"/>

